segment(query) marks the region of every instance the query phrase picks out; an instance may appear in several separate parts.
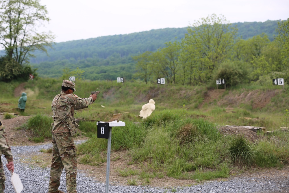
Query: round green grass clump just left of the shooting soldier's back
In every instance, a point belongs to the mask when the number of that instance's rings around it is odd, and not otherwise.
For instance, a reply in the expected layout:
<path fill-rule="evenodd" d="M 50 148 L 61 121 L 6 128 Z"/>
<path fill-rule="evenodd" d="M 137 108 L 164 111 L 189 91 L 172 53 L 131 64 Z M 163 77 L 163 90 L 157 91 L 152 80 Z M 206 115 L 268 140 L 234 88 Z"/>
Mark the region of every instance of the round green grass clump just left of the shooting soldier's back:
<path fill-rule="evenodd" d="M 28 119 L 27 129 L 31 130 L 36 137 L 51 138 L 51 123 L 52 117 L 47 115 L 34 115 Z"/>

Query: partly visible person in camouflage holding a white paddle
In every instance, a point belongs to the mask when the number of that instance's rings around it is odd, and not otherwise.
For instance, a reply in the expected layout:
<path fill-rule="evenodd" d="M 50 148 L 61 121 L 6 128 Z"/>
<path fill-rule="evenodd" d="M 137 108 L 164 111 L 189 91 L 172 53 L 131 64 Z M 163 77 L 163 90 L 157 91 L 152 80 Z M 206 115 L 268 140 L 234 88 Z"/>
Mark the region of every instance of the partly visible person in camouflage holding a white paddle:
<path fill-rule="evenodd" d="M 8 170 L 14 172 L 14 163 L 13 157 L 11 153 L 11 148 L 9 146 L 9 142 L 6 136 L 6 132 L 3 128 L 1 118 L 0 118 L 0 193 L 4 192 L 5 189 L 5 173 L 3 168 L 3 163 L 1 160 L 1 156 L 4 154 L 5 158 L 7 159 L 8 163 L 6 164 Z"/>

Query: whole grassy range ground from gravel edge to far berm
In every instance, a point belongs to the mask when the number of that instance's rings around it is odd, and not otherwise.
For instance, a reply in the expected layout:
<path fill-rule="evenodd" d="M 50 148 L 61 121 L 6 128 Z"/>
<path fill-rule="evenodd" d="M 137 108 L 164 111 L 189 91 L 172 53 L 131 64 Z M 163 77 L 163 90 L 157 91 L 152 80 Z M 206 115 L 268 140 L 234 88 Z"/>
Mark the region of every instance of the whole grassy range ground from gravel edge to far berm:
<path fill-rule="evenodd" d="M 23 127 L 33 131 L 36 142 L 41 141 L 40 137 L 49 138 L 51 102 L 60 93 L 61 83 L 62 80 L 54 79 L 38 79 L 25 84 L 1 83 L 0 111 L 16 113 L 19 96 L 25 91 L 26 109 L 18 115 L 35 116 Z M 224 137 L 218 131 L 222 125 L 263 126 L 266 130 L 288 126 L 287 85 L 284 89 L 271 85 L 243 85 L 216 90 L 206 86 L 138 81 L 123 84 L 78 81 L 75 88 L 79 97 L 100 91 L 94 104 L 77 111 L 77 119 L 110 121 L 117 117 L 126 123 L 125 127 L 113 131 L 112 151 L 126 150 L 131 156 L 129 163 L 143 166 L 143 169 L 139 172 L 123 169 L 119 171 L 120 175 L 132 172 L 144 182 L 164 175 L 201 181 L 226 178 L 236 168 L 288 164 L 287 132 L 270 136 L 258 133 L 264 137 L 253 143 L 240 135 Z M 19 93 L 14 93 L 15 90 Z M 139 111 L 149 99 L 155 101 L 156 108 L 143 120 L 138 117 Z M 92 166 L 105 162 L 103 152 L 107 149 L 107 139 L 97 138 L 95 122 L 81 122 L 79 130 L 81 135 L 90 138 L 77 148 L 79 162 Z"/>

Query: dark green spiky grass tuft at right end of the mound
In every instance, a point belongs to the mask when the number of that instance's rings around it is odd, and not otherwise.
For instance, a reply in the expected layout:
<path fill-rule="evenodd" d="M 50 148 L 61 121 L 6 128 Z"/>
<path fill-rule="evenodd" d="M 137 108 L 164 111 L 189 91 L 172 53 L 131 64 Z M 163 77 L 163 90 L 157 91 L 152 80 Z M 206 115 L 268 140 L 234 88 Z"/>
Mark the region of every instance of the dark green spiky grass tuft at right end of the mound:
<path fill-rule="evenodd" d="M 229 137 L 227 155 L 236 166 L 251 166 L 255 159 L 255 151 L 251 146 L 242 135 Z"/>

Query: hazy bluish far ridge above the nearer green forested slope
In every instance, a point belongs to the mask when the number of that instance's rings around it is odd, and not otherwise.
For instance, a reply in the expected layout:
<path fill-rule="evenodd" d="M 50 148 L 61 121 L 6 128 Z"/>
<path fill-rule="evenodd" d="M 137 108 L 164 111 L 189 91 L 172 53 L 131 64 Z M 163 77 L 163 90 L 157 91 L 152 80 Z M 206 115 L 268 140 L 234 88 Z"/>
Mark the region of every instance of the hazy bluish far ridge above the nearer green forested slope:
<path fill-rule="evenodd" d="M 278 21 L 265 22 L 244 22 L 233 23 L 238 27 L 238 36 L 243 39 L 251 38 L 255 35 L 266 33 L 272 41 L 276 34 L 275 29 Z M 124 35 L 102 36 L 86 40 L 75 40 L 56 43 L 53 49 L 48 48 L 47 56 L 45 53 L 36 52 L 36 58 L 31 58 L 31 63 L 45 61 L 55 61 L 63 59 L 81 60 L 86 58 L 99 57 L 106 59 L 114 53 L 121 57 L 131 54 L 143 53 L 145 51 L 156 51 L 164 47 L 168 41 L 181 40 L 187 33 L 187 27 L 165 28 L 150 30 Z"/>

